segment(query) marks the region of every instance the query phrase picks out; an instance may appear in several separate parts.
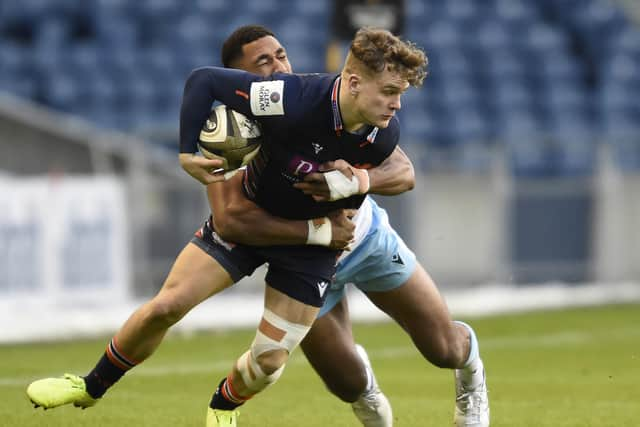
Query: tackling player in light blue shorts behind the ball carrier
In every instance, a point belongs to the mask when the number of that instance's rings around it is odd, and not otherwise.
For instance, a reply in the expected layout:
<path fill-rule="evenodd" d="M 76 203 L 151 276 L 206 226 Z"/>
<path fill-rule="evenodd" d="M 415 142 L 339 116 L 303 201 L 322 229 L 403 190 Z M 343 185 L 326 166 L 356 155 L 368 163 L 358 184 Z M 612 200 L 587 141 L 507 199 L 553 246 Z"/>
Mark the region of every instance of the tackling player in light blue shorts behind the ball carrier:
<path fill-rule="evenodd" d="M 272 32 L 259 26 L 236 30 L 224 44 L 222 62 L 227 67 L 261 75 L 291 72 L 284 48 Z M 398 194 L 410 190 L 414 183 L 411 162 L 399 147 L 379 167 L 369 169 L 369 174 L 370 192 L 376 194 Z M 309 188 L 319 195 L 327 194 L 326 183 L 319 174 L 308 175 L 307 179 L 313 182 Z M 242 176 L 233 180 L 241 181 Z M 265 230 L 271 228 L 269 224 L 274 218 L 248 201 L 239 184 L 209 185 L 208 193 L 215 212 L 216 230 L 225 240 L 245 244 L 295 244 L 304 243 L 307 237 L 304 222 L 297 224 L 297 228 L 284 228 L 278 221 L 274 227 L 278 230 L 277 236 Z M 451 322 L 434 283 L 389 226 L 383 209 L 367 197 L 354 220 L 353 250 L 341 256 L 324 306 L 301 343 L 312 366 L 329 390 L 340 399 L 352 402 L 364 426 L 392 425 L 390 405 L 377 387 L 366 353 L 353 342 L 344 298 L 345 284 L 353 283 L 407 330 L 430 361 L 441 367 L 461 367 L 456 369 L 456 424 L 489 425 L 486 386 L 475 333 L 467 325 Z M 460 341 L 468 341 L 471 346 L 464 346 Z"/>

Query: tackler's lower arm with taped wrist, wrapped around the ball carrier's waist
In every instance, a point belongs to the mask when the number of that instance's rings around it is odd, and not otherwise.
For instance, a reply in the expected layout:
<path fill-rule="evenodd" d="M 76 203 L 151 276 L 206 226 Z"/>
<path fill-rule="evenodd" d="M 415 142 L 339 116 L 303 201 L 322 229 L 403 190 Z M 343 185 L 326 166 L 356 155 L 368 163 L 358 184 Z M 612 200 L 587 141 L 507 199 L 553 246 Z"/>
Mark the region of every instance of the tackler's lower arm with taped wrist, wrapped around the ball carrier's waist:
<path fill-rule="evenodd" d="M 252 246 L 315 244 L 344 249 L 353 240 L 355 211 L 333 212 L 320 221 L 273 216 L 248 200 L 241 190 L 243 174 L 207 186 L 216 232 L 224 240 Z"/>

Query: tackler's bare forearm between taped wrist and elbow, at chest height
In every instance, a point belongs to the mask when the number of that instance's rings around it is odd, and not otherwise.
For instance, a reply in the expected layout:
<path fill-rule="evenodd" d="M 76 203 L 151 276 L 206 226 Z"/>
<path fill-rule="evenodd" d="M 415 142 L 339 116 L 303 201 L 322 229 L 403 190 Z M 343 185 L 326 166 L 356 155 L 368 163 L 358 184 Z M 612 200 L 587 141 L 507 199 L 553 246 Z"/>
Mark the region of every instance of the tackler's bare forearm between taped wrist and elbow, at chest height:
<path fill-rule="evenodd" d="M 396 147 L 384 162 L 368 172 L 369 193 L 393 196 L 415 186 L 413 165 L 400 147 Z"/>

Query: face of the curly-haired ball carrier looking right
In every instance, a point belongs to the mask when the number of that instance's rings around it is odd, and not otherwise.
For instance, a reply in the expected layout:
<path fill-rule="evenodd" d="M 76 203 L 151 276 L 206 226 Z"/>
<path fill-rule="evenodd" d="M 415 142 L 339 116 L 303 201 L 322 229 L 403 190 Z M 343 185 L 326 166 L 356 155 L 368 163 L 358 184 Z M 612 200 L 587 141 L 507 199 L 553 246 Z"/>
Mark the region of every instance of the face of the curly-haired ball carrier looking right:
<path fill-rule="evenodd" d="M 367 124 L 386 128 L 402 106 L 400 97 L 408 88 L 406 79 L 387 69 L 373 78 L 361 76 L 355 98 L 359 115 Z"/>

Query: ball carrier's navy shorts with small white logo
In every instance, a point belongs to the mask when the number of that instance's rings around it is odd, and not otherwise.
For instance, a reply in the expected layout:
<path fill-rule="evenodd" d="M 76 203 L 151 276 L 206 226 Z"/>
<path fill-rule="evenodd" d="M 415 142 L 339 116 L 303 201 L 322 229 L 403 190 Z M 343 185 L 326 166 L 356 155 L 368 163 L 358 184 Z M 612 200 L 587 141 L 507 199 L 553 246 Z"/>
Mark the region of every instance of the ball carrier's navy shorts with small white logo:
<path fill-rule="evenodd" d="M 191 242 L 218 261 L 235 282 L 268 263 L 268 286 L 315 307 L 324 303 L 339 255 L 323 246 L 247 246 L 226 242 L 213 229 L 211 218 Z"/>

